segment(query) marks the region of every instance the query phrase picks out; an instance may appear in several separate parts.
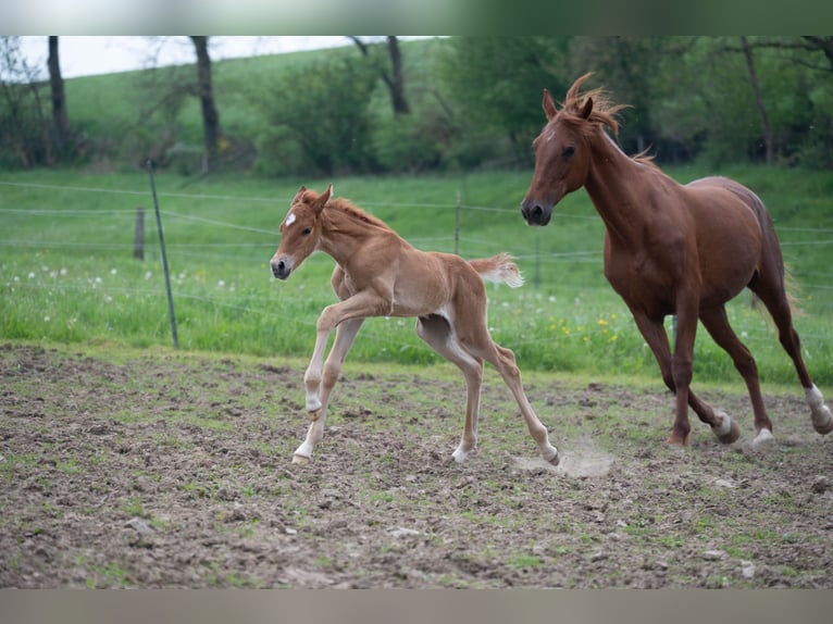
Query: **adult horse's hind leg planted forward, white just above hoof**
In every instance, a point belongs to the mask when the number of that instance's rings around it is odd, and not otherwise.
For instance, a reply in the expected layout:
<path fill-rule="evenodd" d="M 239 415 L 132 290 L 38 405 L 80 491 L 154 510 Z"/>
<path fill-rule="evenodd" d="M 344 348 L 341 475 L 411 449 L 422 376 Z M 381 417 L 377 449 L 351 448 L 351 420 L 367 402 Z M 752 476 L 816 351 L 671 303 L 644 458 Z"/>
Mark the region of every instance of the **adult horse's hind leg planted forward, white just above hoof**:
<path fill-rule="evenodd" d="M 729 324 L 725 308 L 721 305 L 720 308 L 714 308 L 712 310 L 701 311 L 700 321 L 703 321 L 704 327 L 706 327 L 708 333 L 714 339 L 714 342 L 729 353 L 735 369 L 737 369 L 737 372 L 741 373 L 744 382 L 746 382 L 746 388 L 749 391 L 749 399 L 753 404 L 753 412 L 755 413 L 756 435 L 753 445 L 760 445 L 773 440 L 772 422 L 767 415 L 767 409 L 763 405 L 763 397 L 761 397 L 760 383 L 758 382 L 758 365 L 755 363 L 755 358 L 753 358 L 749 349 L 741 342 L 737 335 L 732 329 L 732 326 Z M 736 425 L 734 426 L 736 428 Z M 735 439 L 736 438 L 737 436 L 735 436 Z"/>

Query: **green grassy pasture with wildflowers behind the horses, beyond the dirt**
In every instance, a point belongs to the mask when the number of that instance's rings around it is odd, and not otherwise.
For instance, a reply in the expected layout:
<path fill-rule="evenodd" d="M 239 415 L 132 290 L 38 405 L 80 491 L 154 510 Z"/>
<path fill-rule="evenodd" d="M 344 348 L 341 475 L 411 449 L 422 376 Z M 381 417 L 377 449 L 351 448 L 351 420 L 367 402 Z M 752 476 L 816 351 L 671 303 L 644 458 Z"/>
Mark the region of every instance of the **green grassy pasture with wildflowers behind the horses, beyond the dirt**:
<path fill-rule="evenodd" d="M 745 166 L 671 170 L 688 182 L 735 177 L 773 214 L 798 286 L 797 328 L 811 373 L 833 383 L 833 174 Z M 586 194 L 565 198 L 546 228 L 530 228 L 519 203 L 531 172 L 448 177 L 195 180 L 157 176 L 179 346 L 187 350 L 308 357 L 315 320 L 335 298 L 333 261 L 315 254 L 288 282 L 272 278 L 277 226 L 300 184 L 352 199 L 413 245 L 464 258 L 508 251 L 526 284 L 488 286 L 489 327 L 522 369 L 655 376 L 656 363 L 627 309 L 602 275 L 604 227 Z M 459 196 L 459 232 L 456 234 Z M 145 209 L 145 259 L 133 257 L 137 208 Z M 171 345 L 165 280 L 147 174 L 36 171 L 0 174 L 0 339 Z M 794 383 L 792 363 L 747 294 L 730 304 L 736 332 L 763 380 Z M 671 332 L 671 320 L 668 322 Z M 409 319 L 369 320 L 351 360 L 438 361 Z M 734 378 L 705 330 L 695 374 Z"/>

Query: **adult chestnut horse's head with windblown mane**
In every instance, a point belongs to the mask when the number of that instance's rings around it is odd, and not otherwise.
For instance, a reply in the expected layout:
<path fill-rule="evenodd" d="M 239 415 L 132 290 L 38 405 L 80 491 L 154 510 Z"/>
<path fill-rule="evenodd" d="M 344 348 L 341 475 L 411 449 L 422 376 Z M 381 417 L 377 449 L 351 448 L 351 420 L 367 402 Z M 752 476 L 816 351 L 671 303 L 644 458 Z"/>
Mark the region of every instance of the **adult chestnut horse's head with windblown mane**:
<path fill-rule="evenodd" d="M 604 132 L 601 126 L 618 130 L 613 115 L 623 105 L 611 105 L 601 89 L 579 92 L 592 75 L 585 74 L 573 83 L 560 110 L 544 89 L 547 125 L 532 143 L 535 173 L 521 202 L 521 214 L 529 225 L 547 225 L 552 207 L 584 186 L 593 159 L 590 145 Z"/>

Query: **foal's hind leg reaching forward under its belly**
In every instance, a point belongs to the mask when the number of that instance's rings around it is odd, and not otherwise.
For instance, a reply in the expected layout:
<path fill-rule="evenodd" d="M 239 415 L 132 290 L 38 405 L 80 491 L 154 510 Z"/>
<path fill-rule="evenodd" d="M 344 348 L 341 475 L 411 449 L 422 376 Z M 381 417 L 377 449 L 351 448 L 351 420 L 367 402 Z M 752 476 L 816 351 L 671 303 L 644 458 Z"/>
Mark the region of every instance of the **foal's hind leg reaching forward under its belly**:
<path fill-rule="evenodd" d="M 460 347 L 451 334 L 445 317 L 437 314 L 416 319 L 416 334 L 437 353 L 457 365 L 465 378 L 465 422 L 460 444 L 451 454 L 458 463 L 477 446 L 477 419 L 480 414 L 483 361 Z"/>

